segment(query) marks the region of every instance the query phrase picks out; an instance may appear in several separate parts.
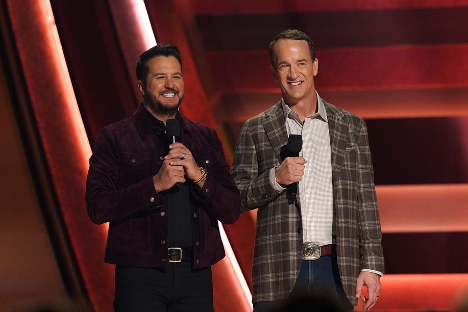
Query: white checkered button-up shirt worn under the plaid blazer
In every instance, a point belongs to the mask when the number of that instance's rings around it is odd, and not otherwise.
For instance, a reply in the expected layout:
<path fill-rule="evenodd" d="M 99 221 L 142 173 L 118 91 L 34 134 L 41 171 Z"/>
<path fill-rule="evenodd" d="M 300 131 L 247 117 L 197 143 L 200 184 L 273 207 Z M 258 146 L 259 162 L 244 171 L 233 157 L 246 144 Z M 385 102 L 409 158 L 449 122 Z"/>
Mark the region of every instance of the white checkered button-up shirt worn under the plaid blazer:
<path fill-rule="evenodd" d="M 307 116 L 303 124 L 282 100 L 288 136 L 302 136 L 301 156 L 307 161 L 298 186 L 303 240 L 323 246 L 332 243 L 333 184 L 328 119 L 318 93 L 317 103 L 318 112 Z M 284 190 L 276 182 L 275 168 L 270 171 L 270 182 L 277 191 Z"/>

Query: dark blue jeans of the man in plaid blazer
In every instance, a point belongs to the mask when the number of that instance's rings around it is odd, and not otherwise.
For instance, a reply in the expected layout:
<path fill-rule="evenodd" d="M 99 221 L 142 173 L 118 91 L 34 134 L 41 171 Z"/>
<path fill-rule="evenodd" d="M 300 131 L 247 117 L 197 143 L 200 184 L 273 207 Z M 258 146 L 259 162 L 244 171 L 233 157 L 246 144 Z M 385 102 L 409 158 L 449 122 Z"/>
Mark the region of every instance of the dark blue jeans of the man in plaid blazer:
<path fill-rule="evenodd" d="M 338 305 L 341 310 L 353 310 L 353 305 L 341 285 L 336 255 L 322 256 L 316 260 L 302 260 L 290 298 L 284 301 L 254 302 L 254 311 L 280 311 L 306 306 L 312 310 L 321 310 L 317 304 Z M 322 309 L 325 310 L 326 307 Z"/>

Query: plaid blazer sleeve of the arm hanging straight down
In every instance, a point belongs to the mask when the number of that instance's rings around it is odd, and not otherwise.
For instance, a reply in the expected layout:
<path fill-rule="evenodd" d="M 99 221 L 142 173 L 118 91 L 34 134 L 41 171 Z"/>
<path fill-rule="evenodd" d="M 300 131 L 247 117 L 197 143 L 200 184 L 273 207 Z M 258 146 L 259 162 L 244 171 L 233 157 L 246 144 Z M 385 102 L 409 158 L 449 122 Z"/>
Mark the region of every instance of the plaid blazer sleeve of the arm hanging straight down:
<path fill-rule="evenodd" d="M 384 273 L 382 231 L 374 186 L 371 151 L 364 120 L 360 120 L 358 152 L 358 212 L 361 269 Z"/>

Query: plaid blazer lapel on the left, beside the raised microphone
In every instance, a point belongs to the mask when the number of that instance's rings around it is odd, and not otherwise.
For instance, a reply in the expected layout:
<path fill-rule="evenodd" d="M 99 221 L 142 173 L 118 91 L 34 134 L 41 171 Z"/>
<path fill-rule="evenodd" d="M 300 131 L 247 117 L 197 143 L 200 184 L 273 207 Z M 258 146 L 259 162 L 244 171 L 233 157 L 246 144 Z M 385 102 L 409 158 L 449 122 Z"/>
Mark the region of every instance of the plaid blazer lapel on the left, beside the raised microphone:
<path fill-rule="evenodd" d="M 281 101 L 276 103 L 272 108 L 265 112 L 266 118 L 263 120 L 263 128 L 265 129 L 266 136 L 273 149 L 275 150 L 276 157 L 281 163 L 281 147 L 288 142 L 288 133 L 286 130 L 286 123 L 284 120 L 283 108 Z"/>

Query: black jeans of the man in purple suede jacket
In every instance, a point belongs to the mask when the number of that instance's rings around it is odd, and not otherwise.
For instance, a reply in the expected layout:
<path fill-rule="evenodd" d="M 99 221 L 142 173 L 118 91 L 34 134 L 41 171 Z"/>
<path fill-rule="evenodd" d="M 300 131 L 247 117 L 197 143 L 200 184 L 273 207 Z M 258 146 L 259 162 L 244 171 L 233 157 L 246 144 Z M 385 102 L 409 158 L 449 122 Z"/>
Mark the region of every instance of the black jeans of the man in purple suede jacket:
<path fill-rule="evenodd" d="M 213 311 L 211 267 L 193 270 L 190 262 L 164 269 L 117 266 L 114 310 Z"/>

